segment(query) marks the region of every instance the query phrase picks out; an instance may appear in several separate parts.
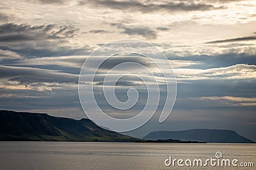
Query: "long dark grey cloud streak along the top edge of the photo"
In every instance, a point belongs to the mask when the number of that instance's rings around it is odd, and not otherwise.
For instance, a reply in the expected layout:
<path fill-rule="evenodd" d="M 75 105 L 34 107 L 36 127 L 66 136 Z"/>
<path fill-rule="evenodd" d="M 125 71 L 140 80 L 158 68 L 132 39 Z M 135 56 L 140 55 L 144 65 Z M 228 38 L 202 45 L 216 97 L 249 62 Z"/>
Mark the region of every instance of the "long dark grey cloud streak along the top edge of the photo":
<path fill-rule="evenodd" d="M 141 11 L 143 13 L 153 11 L 207 11 L 216 10 L 223 7 L 215 7 L 212 4 L 196 3 L 196 1 L 172 1 L 163 3 L 143 3 L 141 1 L 114 1 L 114 0 L 95 0 L 95 1 L 80 1 L 79 4 L 94 4 L 95 6 L 104 6 L 117 10 L 132 10 Z"/>

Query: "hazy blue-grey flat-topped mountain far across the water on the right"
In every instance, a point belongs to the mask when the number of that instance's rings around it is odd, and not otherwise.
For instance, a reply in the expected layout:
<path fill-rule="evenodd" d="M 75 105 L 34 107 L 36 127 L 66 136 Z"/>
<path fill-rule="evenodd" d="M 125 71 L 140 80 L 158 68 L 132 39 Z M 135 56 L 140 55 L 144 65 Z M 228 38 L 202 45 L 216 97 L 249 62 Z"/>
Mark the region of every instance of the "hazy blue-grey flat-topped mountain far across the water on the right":
<path fill-rule="evenodd" d="M 235 131 L 218 129 L 191 129 L 187 131 L 150 132 L 142 139 L 177 139 L 182 141 L 200 141 L 206 143 L 254 143 Z"/>

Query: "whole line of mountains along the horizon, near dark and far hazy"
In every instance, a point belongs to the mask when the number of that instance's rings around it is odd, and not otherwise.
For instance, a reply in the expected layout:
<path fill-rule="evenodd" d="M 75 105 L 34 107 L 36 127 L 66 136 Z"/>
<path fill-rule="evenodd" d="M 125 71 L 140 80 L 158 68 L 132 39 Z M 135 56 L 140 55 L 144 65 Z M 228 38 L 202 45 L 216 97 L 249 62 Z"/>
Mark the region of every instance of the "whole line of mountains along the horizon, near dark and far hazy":
<path fill-rule="evenodd" d="M 255 143 L 231 130 L 154 131 L 142 139 L 109 131 L 88 118 L 0 110 L 0 141 L 104 141 L 138 143 Z"/>

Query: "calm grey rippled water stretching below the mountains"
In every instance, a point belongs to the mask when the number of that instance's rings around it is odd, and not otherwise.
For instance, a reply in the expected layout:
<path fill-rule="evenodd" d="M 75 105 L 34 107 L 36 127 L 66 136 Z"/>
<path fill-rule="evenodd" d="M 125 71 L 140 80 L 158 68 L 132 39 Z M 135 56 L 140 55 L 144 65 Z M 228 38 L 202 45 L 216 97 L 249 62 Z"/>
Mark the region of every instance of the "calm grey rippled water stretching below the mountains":
<path fill-rule="evenodd" d="M 222 159 L 254 167 L 167 167 L 164 160 Z M 0 169 L 255 169 L 256 145 L 0 142 Z M 239 163 L 237 163 L 239 164 Z"/>

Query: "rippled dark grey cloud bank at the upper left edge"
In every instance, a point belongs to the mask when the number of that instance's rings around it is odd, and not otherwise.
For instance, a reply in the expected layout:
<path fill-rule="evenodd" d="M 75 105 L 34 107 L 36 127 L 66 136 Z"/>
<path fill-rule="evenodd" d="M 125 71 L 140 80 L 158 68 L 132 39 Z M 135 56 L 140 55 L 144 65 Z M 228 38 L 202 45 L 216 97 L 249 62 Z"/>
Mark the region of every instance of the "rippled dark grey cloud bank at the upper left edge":
<path fill-rule="evenodd" d="M 73 25 L 0 25 L 0 49 L 32 57 L 84 55 L 89 46 L 74 48 L 68 41 L 77 35 L 79 29 Z"/>

